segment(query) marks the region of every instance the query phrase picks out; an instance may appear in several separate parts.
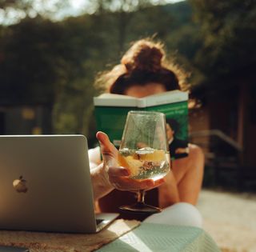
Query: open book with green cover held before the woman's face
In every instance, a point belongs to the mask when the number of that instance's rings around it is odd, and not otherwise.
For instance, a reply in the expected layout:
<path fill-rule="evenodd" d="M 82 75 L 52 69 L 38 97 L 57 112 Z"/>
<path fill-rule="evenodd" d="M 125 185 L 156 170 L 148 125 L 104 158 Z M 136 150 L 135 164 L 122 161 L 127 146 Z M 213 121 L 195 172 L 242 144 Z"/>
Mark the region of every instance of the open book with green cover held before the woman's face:
<path fill-rule="evenodd" d="M 172 159 L 188 154 L 188 93 L 180 90 L 134 98 L 122 94 L 101 94 L 94 97 L 97 128 L 108 134 L 114 146 L 119 146 L 126 116 L 130 110 L 149 110 L 166 114 L 166 129 Z M 167 134 L 168 135 L 168 134 Z M 170 135 L 170 134 L 169 134 Z"/>

